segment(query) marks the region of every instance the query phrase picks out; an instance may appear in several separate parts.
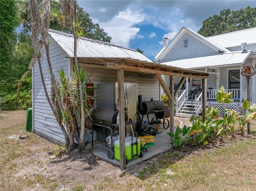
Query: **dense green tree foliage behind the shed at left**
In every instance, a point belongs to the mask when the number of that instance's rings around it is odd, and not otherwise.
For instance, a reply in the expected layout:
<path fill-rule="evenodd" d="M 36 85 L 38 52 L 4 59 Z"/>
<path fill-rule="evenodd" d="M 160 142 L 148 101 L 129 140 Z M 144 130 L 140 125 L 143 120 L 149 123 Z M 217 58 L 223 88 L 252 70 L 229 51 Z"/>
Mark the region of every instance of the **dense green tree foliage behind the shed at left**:
<path fill-rule="evenodd" d="M 43 0 L 36 0 L 42 4 Z M 62 14 L 59 1 L 52 0 L 50 28 L 69 32 L 69 21 Z M 30 105 L 31 72 L 22 80 L 22 88 L 17 95 L 17 84 L 28 70 L 34 48 L 31 41 L 31 21 L 29 0 L 1 0 L 0 12 L 0 110 L 26 109 Z M 77 7 L 77 20 L 82 21 L 84 37 L 110 42 L 111 37 L 93 23 L 90 15 Z"/>

